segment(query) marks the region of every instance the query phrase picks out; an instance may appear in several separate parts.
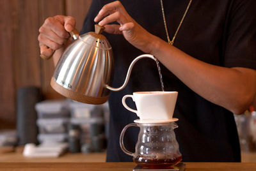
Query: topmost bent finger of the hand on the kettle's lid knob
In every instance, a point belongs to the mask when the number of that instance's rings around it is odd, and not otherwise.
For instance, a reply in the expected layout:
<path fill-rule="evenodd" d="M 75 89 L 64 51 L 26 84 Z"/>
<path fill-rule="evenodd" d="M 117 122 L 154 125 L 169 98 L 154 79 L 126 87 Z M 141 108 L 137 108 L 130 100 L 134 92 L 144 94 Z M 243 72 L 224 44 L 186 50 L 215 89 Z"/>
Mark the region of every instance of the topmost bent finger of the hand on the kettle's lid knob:
<path fill-rule="evenodd" d="M 103 19 L 103 17 L 106 17 L 112 11 L 114 11 L 114 12 L 120 11 L 120 13 L 122 13 L 124 15 L 127 14 L 122 3 L 120 3 L 120 1 L 115 1 L 113 3 L 106 4 L 102 7 L 102 9 L 99 11 L 98 15 L 95 17 L 95 22 L 99 22 L 101 19 Z"/>

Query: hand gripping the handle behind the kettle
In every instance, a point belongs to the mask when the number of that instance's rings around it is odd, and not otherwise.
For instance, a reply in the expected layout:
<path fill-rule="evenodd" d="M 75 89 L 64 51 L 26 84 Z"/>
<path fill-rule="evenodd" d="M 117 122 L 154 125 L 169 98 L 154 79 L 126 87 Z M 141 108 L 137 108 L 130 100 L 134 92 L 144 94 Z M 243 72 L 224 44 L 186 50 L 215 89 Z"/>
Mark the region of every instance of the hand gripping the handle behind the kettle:
<path fill-rule="evenodd" d="M 76 26 L 76 20 L 73 17 L 56 15 L 45 20 L 39 29 L 38 41 L 40 54 L 50 57 L 55 50 L 64 47 L 72 31 Z"/>

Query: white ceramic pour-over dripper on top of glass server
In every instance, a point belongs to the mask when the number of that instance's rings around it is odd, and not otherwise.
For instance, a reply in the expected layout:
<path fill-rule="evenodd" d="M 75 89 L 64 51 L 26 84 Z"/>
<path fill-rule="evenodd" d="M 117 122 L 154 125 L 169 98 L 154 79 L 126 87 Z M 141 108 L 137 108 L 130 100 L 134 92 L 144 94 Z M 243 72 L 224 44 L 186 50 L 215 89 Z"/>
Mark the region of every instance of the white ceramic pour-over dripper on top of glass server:
<path fill-rule="evenodd" d="M 148 91 L 127 94 L 122 98 L 122 103 L 127 110 L 140 117 L 135 123 L 170 123 L 178 121 L 173 118 L 173 112 L 177 101 L 177 91 Z M 132 98 L 137 110 L 127 106 L 126 98 Z"/>

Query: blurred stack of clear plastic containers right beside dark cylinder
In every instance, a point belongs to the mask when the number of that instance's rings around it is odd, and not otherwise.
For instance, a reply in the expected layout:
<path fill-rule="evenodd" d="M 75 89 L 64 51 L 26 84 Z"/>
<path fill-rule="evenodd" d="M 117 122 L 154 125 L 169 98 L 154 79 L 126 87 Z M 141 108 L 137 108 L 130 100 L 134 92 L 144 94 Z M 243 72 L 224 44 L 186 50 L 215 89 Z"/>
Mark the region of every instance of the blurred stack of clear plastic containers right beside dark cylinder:
<path fill-rule="evenodd" d="M 68 100 L 46 100 L 36 103 L 38 141 L 41 144 L 67 142 L 67 126 L 70 122 L 69 103 Z"/>

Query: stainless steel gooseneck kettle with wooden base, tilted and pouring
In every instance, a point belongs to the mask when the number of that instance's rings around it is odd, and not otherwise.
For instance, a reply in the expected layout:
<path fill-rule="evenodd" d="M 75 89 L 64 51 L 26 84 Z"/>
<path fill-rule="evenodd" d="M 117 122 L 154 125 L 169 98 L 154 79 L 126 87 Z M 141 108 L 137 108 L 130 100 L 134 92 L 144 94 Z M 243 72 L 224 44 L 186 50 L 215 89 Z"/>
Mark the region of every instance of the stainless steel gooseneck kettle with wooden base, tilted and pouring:
<path fill-rule="evenodd" d="M 102 104 L 108 100 L 109 90 L 124 89 L 134 63 L 143 57 L 156 58 L 150 54 L 136 57 L 127 71 L 121 87 L 110 87 L 113 80 L 113 52 L 109 41 L 101 33 L 104 27 L 95 25 L 95 32 L 81 36 L 71 34 L 73 41 L 63 52 L 51 79 L 52 88 L 75 101 Z"/>

